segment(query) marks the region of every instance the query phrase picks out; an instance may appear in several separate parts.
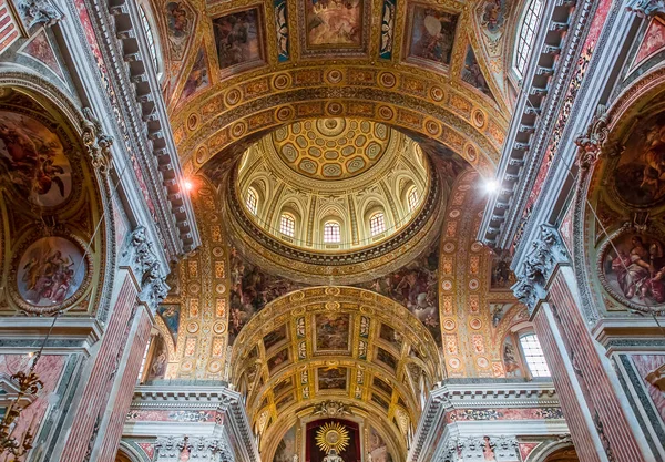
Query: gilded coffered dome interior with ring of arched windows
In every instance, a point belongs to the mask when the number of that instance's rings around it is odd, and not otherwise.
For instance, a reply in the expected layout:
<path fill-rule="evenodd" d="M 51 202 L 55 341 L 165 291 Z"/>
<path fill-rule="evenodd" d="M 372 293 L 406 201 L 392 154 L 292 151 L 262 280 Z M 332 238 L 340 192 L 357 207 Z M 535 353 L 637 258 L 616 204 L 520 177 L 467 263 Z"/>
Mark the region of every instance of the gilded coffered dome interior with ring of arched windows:
<path fill-rule="evenodd" d="M 430 189 L 420 146 L 387 125 L 351 117 L 279 127 L 244 154 L 235 179 L 244 214 L 293 247 L 347 253 L 397 235 Z"/>

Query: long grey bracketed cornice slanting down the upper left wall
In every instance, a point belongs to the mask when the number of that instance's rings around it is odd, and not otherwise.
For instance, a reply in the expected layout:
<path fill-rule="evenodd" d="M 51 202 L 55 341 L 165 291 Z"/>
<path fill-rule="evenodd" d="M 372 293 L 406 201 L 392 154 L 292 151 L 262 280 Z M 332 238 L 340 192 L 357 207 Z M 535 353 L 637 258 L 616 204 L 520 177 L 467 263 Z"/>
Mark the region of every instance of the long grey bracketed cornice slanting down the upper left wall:
<path fill-rule="evenodd" d="M 125 143 L 133 145 L 131 151 L 142 153 L 135 158 L 155 204 L 171 259 L 193 250 L 201 240 L 192 204 L 182 189 L 178 155 L 144 32 L 135 27 L 140 24 L 137 7 L 127 0 L 90 1 L 91 19 L 116 83 L 115 97 L 125 113 Z"/>

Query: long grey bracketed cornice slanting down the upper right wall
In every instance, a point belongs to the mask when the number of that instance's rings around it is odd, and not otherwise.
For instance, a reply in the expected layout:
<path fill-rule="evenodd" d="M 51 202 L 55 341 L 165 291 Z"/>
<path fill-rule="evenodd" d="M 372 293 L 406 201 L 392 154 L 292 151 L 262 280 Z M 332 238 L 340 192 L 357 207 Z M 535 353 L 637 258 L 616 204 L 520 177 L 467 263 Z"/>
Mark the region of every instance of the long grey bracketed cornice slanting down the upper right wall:
<path fill-rule="evenodd" d="M 479 232 L 479 239 L 492 247 L 508 246 L 532 193 L 595 3 L 594 0 L 556 0 L 550 19 L 541 25 L 540 42 L 534 45 L 540 53 L 533 53 L 538 57 L 532 57 L 522 81 L 515 115 L 503 144 L 497 175 L 501 187 L 488 203 Z M 574 24 L 571 23 L 573 16 L 576 16 Z M 538 62 L 551 62 L 552 66 L 534 65 Z"/>

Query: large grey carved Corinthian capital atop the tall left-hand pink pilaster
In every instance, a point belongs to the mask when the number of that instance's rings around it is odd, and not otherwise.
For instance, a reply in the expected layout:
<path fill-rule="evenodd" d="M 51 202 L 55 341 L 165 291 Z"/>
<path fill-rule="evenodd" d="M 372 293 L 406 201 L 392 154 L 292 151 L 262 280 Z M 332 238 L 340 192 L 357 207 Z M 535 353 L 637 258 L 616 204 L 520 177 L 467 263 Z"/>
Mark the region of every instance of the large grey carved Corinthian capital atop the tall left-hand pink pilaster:
<path fill-rule="evenodd" d="M 157 305 L 168 295 L 166 275 L 153 249 L 153 243 L 147 240 L 145 227 L 137 226 L 127 237 L 121 255 L 122 264 L 132 268 L 139 281 L 141 292 L 139 298 L 146 302 L 154 314 Z"/>

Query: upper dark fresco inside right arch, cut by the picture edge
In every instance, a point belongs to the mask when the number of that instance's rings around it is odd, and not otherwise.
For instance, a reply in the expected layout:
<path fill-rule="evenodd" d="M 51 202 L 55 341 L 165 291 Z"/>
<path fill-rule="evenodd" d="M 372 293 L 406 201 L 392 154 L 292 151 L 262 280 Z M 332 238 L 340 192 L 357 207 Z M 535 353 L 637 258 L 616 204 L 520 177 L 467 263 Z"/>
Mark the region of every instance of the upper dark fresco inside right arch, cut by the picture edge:
<path fill-rule="evenodd" d="M 665 197 L 665 112 L 636 124 L 614 171 L 614 187 L 623 202 L 638 207 Z"/>

